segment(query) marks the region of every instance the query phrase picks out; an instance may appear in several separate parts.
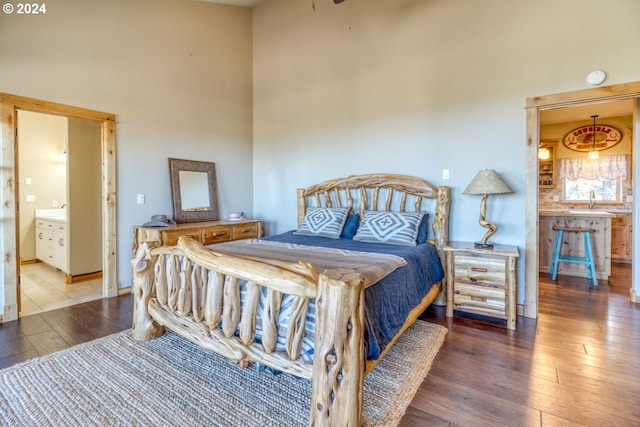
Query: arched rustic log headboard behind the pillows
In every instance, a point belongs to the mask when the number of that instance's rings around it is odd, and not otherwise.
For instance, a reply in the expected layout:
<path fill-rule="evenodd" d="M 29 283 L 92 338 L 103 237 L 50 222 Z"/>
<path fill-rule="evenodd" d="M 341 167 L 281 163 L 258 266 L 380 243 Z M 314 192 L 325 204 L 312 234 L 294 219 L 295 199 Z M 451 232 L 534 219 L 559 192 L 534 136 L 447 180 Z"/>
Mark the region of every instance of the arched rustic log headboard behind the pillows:
<path fill-rule="evenodd" d="M 421 178 L 397 174 L 351 175 L 298 189 L 298 225 L 307 207 L 350 207 L 364 216 L 371 211 L 426 211 L 432 215 L 433 243 L 438 252 L 449 243 L 451 189 Z M 442 255 L 441 255 L 442 256 Z"/>

